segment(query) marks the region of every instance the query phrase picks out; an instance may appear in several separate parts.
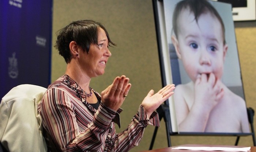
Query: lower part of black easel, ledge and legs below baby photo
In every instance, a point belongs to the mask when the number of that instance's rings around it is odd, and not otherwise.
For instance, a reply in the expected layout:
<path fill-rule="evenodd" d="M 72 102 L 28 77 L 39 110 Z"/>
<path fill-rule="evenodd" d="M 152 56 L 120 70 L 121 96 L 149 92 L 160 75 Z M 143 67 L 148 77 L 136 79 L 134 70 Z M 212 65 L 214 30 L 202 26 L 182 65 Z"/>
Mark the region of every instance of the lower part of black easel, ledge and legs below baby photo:
<path fill-rule="evenodd" d="M 165 121 L 168 147 L 172 147 L 170 136 L 179 135 L 179 134 L 172 132 L 172 129 L 171 129 L 172 126 L 171 126 L 171 121 L 170 121 L 169 105 L 165 103 L 165 104 L 159 106 L 159 108 L 157 109 L 157 112 L 159 114 L 159 119 L 161 120 L 163 118 L 164 121 Z M 234 135 L 223 134 L 221 136 L 237 136 L 235 145 L 238 144 L 240 136 L 252 136 L 253 145 L 256 146 L 255 133 L 254 133 L 254 128 L 253 128 L 254 110 L 252 108 L 247 108 L 247 114 L 248 114 L 249 123 L 251 125 L 251 133 L 246 133 L 246 134 L 245 133 L 241 133 L 241 134 L 234 134 Z M 155 130 L 154 130 L 154 133 L 153 133 L 153 137 L 152 137 L 152 140 L 151 140 L 151 144 L 150 144 L 149 150 L 151 150 L 153 148 L 154 141 L 155 141 L 155 136 L 157 135 L 157 130 L 158 130 L 158 127 L 155 127 Z M 188 134 L 184 134 L 184 135 L 188 136 Z M 202 136 L 203 134 L 198 134 L 197 133 L 197 134 L 191 134 L 191 135 L 193 135 L 193 136 Z M 189 135 L 189 136 L 191 136 L 191 135 Z M 212 134 L 212 135 L 215 135 L 215 134 Z M 220 135 L 220 134 L 217 134 L 217 135 Z"/>

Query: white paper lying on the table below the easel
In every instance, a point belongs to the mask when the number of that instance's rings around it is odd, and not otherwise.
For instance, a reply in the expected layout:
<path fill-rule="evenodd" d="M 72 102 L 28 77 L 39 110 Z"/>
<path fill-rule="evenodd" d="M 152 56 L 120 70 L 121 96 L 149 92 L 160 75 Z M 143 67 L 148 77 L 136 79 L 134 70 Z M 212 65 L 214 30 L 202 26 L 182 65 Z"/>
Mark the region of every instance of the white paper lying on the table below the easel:
<path fill-rule="evenodd" d="M 174 147 L 172 149 L 202 150 L 202 151 L 229 151 L 229 152 L 247 152 L 251 147 Z"/>

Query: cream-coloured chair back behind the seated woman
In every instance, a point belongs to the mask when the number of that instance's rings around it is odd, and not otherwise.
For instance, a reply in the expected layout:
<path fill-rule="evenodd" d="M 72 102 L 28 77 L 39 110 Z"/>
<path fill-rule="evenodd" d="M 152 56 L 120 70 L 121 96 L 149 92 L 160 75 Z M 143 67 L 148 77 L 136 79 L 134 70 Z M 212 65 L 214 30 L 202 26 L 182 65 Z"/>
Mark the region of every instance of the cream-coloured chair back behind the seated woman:
<path fill-rule="evenodd" d="M 46 88 L 23 84 L 12 88 L 0 103 L 0 143 L 9 152 L 47 152 L 37 105 Z"/>

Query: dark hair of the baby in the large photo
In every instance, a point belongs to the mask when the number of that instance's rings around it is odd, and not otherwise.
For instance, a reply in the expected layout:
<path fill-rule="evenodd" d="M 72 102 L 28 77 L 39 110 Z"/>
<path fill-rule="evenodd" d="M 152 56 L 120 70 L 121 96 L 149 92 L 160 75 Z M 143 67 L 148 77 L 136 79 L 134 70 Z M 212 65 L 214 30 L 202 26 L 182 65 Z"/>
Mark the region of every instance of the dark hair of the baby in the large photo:
<path fill-rule="evenodd" d="M 221 16 L 217 12 L 217 10 L 207 1 L 207 0 L 182 0 L 176 4 L 176 7 L 174 9 L 173 13 L 173 31 L 174 34 L 178 37 L 178 25 L 177 25 L 177 20 L 178 17 L 182 11 L 182 9 L 189 9 L 190 12 L 192 12 L 195 16 L 195 20 L 197 23 L 198 18 L 200 15 L 206 12 L 210 12 L 212 15 L 216 16 L 219 22 L 221 23 L 222 27 L 222 34 L 223 34 L 223 40 L 224 44 L 226 43 L 225 41 L 225 27 L 224 23 L 221 19 Z"/>

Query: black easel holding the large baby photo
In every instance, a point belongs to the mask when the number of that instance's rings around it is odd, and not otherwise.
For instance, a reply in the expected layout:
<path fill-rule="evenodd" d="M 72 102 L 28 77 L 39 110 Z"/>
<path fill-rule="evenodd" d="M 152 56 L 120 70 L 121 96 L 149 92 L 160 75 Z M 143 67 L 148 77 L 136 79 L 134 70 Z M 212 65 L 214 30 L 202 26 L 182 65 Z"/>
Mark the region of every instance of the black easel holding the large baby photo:
<path fill-rule="evenodd" d="M 152 0 L 153 3 L 153 10 L 154 10 L 154 19 L 155 19 L 155 27 L 157 31 L 157 40 L 158 40 L 158 51 L 159 51 L 159 61 L 160 61 L 160 69 L 161 69 L 161 77 L 162 77 L 162 84 L 165 86 L 166 83 L 166 71 L 168 73 L 168 70 L 165 70 L 165 63 L 164 63 L 164 54 L 163 51 L 164 49 L 167 49 L 166 46 L 168 45 L 167 42 L 165 42 L 165 36 L 161 35 L 162 31 L 165 31 L 165 17 L 163 13 L 163 0 Z M 177 58 L 177 57 L 175 57 Z M 171 64 L 172 65 L 172 64 Z M 179 73 L 179 71 L 177 72 Z M 168 74 L 167 74 L 168 75 Z M 169 77 L 168 77 L 169 78 Z M 174 83 L 174 82 L 173 82 Z M 180 84 L 174 83 L 174 84 Z M 238 145 L 238 141 L 240 140 L 240 136 L 252 136 L 253 139 L 253 145 L 256 146 L 256 141 L 255 141 L 255 132 L 253 128 L 253 116 L 254 116 L 254 110 L 252 108 L 247 108 L 247 113 L 248 113 L 248 120 L 251 125 L 251 133 L 208 133 L 208 134 L 203 134 L 203 133 L 177 133 L 177 132 L 172 132 L 172 124 L 171 124 L 171 118 L 170 118 L 170 109 L 169 109 L 169 103 L 168 101 L 165 101 L 165 103 L 157 109 L 157 112 L 159 114 L 160 120 L 163 118 L 165 121 L 165 126 L 166 126 L 166 135 L 167 135 L 167 141 L 168 141 L 168 147 L 171 147 L 171 139 L 170 136 L 174 135 L 183 135 L 183 136 L 236 136 L 236 143 L 235 145 Z M 150 148 L 151 150 L 154 145 L 155 137 L 157 134 L 158 127 L 155 128 L 153 137 L 151 140 Z"/>

